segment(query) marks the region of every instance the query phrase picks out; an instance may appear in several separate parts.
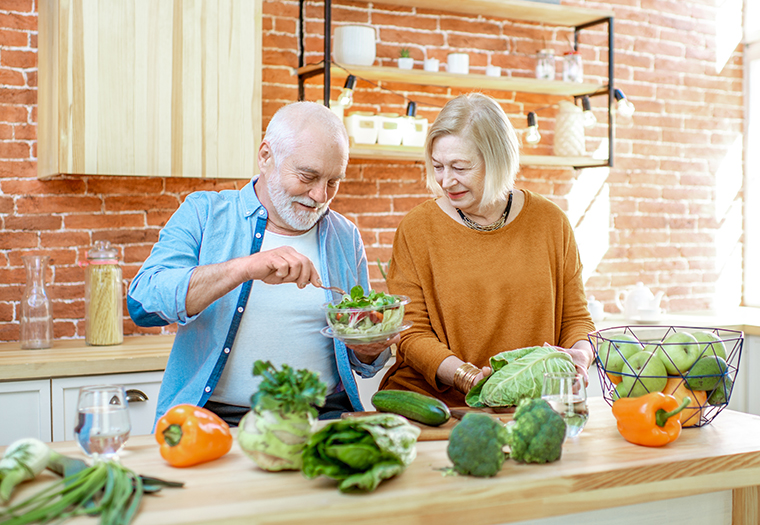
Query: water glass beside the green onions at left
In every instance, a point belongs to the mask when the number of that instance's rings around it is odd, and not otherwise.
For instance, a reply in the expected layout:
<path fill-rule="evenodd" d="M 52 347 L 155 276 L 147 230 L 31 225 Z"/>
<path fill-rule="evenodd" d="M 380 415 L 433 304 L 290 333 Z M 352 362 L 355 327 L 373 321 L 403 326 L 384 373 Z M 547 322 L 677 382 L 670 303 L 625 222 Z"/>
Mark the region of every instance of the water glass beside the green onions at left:
<path fill-rule="evenodd" d="M 79 389 L 74 435 L 79 448 L 89 458 L 93 461 L 117 459 L 130 430 L 129 407 L 123 386 L 99 385 Z"/>

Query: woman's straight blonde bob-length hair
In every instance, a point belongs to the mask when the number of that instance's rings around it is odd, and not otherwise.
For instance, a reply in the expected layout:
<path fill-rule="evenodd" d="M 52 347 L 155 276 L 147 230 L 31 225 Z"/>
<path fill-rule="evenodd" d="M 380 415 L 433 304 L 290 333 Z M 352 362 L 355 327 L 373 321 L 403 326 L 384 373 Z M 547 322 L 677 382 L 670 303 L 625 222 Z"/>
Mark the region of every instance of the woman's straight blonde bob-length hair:
<path fill-rule="evenodd" d="M 430 126 L 425 140 L 427 187 L 444 195 L 433 171 L 433 144 L 446 135 L 471 140 L 483 157 L 485 183 L 481 207 L 506 199 L 514 188 L 520 166 L 517 133 L 498 102 L 482 93 L 469 93 L 450 100 Z"/>

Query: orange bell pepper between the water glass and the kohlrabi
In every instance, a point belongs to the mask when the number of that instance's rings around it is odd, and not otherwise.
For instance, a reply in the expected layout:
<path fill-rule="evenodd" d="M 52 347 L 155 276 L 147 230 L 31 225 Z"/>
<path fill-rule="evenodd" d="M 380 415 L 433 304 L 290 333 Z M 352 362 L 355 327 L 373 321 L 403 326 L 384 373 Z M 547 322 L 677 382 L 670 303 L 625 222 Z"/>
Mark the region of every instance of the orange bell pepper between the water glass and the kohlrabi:
<path fill-rule="evenodd" d="M 158 420 L 161 457 L 173 467 L 190 467 L 224 456 L 232 448 L 227 423 L 205 408 L 176 405 Z"/>

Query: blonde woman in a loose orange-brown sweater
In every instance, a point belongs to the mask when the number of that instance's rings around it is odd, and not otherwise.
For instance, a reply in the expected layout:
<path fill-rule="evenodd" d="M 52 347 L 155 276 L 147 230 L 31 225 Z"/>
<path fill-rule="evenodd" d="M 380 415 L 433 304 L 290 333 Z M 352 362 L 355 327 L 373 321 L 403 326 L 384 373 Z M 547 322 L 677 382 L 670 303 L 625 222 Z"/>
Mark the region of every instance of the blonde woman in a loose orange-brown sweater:
<path fill-rule="evenodd" d="M 438 198 L 401 221 L 388 271 L 389 290 L 411 298 L 414 324 L 380 388 L 464 406 L 490 357 L 545 344 L 587 379 L 594 325 L 573 230 L 557 205 L 514 188 L 519 144 L 499 104 L 476 93 L 446 104 L 425 164 Z"/>

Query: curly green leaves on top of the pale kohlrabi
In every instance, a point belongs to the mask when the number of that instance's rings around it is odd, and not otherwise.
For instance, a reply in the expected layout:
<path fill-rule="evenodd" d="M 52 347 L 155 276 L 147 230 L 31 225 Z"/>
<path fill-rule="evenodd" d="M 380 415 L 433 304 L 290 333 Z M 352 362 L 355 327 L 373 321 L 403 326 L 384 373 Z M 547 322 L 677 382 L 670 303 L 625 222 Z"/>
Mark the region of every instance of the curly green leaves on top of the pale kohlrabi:
<path fill-rule="evenodd" d="M 251 410 L 274 410 L 286 414 L 309 413 L 317 417 L 315 406 L 325 404 L 327 385 L 319 375 L 306 369 L 293 370 L 283 364 L 277 370 L 269 361 L 257 360 L 253 375 L 262 376 L 259 389 L 251 396 Z"/>

